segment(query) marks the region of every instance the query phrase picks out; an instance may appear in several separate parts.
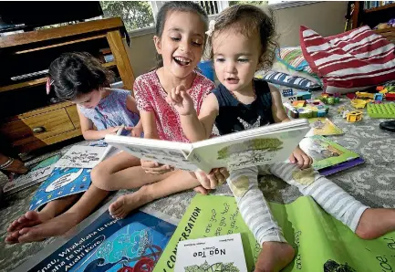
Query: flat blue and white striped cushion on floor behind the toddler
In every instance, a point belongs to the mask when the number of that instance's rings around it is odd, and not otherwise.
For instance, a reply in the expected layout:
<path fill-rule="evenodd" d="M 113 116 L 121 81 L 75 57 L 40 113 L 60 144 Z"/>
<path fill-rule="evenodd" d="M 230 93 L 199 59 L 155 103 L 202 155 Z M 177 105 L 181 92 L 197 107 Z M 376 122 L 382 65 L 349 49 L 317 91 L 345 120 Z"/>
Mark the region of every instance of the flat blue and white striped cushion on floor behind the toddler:
<path fill-rule="evenodd" d="M 306 78 L 292 77 L 285 73 L 268 71 L 265 75 L 255 74 L 256 78 L 263 78 L 267 82 L 295 89 L 317 90 L 321 89 L 317 83 Z"/>

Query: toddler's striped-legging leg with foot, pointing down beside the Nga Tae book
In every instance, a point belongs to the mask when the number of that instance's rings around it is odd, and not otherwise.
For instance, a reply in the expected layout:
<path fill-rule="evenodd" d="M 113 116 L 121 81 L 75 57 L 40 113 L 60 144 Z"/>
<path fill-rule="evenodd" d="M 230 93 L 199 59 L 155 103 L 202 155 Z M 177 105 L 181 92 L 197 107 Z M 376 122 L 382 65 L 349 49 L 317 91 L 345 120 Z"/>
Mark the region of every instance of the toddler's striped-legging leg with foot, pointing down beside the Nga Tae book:
<path fill-rule="evenodd" d="M 227 182 L 244 222 L 262 245 L 255 271 L 280 271 L 294 258 L 295 251 L 286 243 L 282 229 L 275 222 L 264 194 L 258 188 L 257 167 L 230 173 Z"/>

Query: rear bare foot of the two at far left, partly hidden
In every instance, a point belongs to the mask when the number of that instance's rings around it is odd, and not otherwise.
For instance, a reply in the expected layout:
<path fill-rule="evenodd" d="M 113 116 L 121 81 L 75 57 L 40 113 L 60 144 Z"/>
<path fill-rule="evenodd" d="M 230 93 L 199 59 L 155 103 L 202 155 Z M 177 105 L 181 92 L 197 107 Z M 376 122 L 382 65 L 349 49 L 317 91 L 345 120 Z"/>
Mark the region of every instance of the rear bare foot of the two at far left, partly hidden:
<path fill-rule="evenodd" d="M 26 214 L 23 214 L 8 226 L 8 235 L 5 237 L 5 243 L 18 243 L 19 230 L 23 229 L 24 227 L 40 225 L 53 217 L 54 216 L 51 214 L 37 213 L 36 211 L 26 212 Z"/>

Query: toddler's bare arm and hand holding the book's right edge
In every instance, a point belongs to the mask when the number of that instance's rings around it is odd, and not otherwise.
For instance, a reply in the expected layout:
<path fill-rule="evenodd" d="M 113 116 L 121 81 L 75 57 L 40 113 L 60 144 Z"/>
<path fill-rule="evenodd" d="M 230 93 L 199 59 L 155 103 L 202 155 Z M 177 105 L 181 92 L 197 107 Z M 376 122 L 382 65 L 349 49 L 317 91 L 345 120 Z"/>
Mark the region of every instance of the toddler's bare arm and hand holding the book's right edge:
<path fill-rule="evenodd" d="M 274 86 L 269 85 L 269 88 L 270 93 L 272 94 L 273 119 L 275 122 L 289 121 L 290 119 L 286 115 L 286 110 L 284 110 L 280 92 Z M 313 163 L 313 159 L 311 159 L 307 153 L 297 146 L 295 151 L 289 156 L 289 162 L 297 163 L 299 168 L 305 169 Z"/>

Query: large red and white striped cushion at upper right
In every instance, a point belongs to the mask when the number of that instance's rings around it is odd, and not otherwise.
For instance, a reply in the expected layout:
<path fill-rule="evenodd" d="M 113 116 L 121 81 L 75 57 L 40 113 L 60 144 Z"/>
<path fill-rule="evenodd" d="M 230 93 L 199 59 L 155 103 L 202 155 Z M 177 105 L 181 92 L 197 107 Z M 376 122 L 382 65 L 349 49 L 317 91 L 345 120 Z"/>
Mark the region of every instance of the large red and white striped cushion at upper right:
<path fill-rule="evenodd" d="M 300 26 L 300 46 L 327 93 L 348 93 L 395 79 L 395 46 L 369 26 L 321 37 Z"/>

